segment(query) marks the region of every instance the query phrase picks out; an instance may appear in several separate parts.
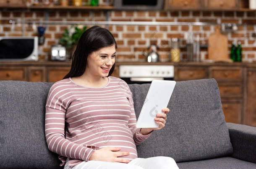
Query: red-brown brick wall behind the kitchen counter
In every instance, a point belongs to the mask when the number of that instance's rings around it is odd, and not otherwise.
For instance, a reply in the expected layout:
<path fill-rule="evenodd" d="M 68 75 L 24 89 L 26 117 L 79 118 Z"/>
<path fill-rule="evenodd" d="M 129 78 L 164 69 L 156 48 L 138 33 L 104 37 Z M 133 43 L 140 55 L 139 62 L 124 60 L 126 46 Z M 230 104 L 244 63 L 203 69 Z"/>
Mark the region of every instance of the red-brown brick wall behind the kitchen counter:
<path fill-rule="evenodd" d="M 175 22 L 211 22 L 211 23 L 255 23 L 256 12 L 224 12 L 224 11 L 110 11 L 111 21 L 175 21 Z M 105 21 L 105 11 L 95 10 L 49 10 L 49 20 Z M 14 29 L 8 20 L 44 20 L 44 10 L 0 10 L 0 36 L 35 36 L 38 25 L 16 24 Z M 71 25 L 49 25 L 45 32 L 45 43 L 39 46 L 39 59 L 48 60 L 51 45 L 57 44 L 65 28 Z M 88 27 L 93 25 L 87 25 Z M 186 58 L 184 33 L 193 31 L 200 35 L 201 43 L 207 42 L 214 26 L 162 26 L 162 25 L 109 25 L 117 43 L 118 61 L 144 61 L 142 51 L 150 44 L 159 45 L 160 60 L 169 61 L 170 39 L 181 40 L 181 57 Z M 229 48 L 232 41 L 241 41 L 243 61 L 256 62 L 256 25 L 239 26 L 238 30 L 225 33 Z M 201 58 L 207 58 L 207 49 L 201 52 Z"/>

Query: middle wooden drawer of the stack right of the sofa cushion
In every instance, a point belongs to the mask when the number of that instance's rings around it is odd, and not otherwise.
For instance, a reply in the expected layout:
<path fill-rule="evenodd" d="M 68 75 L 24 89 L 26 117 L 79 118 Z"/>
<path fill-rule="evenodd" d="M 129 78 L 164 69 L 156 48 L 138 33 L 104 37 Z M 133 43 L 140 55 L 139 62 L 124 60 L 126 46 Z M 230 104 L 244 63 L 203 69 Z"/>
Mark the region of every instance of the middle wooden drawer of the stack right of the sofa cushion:
<path fill-rule="evenodd" d="M 220 96 L 242 96 L 241 85 L 218 84 Z"/>

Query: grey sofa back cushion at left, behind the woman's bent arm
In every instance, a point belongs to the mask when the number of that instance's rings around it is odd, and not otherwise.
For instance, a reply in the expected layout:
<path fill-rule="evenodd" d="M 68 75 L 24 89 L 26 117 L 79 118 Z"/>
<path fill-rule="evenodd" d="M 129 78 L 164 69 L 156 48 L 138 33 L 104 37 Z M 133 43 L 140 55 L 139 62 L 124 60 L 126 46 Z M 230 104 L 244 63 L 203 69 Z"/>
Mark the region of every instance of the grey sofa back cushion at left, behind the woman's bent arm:
<path fill-rule="evenodd" d="M 52 83 L 0 81 L 0 168 L 60 168 L 44 136 L 45 102 Z"/>

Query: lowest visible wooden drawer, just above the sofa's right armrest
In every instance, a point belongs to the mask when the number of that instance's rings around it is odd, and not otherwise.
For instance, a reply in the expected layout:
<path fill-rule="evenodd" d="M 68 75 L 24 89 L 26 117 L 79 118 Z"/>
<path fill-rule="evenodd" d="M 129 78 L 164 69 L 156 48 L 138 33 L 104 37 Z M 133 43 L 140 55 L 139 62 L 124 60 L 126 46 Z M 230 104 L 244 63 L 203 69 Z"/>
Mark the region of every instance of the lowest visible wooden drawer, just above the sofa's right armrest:
<path fill-rule="evenodd" d="M 222 110 L 223 110 L 226 122 L 242 124 L 241 101 L 222 101 Z"/>

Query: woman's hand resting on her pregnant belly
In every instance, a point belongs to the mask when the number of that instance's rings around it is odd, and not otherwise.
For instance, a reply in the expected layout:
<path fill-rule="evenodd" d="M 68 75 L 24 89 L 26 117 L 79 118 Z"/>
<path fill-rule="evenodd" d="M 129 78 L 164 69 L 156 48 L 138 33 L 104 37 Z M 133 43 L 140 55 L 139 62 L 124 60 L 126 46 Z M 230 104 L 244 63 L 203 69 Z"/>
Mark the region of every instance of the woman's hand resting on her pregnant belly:
<path fill-rule="evenodd" d="M 94 161 L 108 161 L 108 162 L 121 162 L 121 163 L 128 163 L 130 160 L 118 158 L 118 156 L 125 156 L 129 155 L 129 152 L 119 151 L 121 147 L 104 147 L 99 150 L 95 150 L 93 154 L 91 154 L 89 160 Z M 118 152 L 113 152 L 118 151 Z"/>

